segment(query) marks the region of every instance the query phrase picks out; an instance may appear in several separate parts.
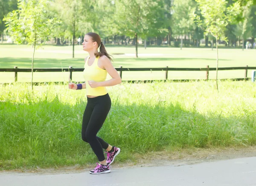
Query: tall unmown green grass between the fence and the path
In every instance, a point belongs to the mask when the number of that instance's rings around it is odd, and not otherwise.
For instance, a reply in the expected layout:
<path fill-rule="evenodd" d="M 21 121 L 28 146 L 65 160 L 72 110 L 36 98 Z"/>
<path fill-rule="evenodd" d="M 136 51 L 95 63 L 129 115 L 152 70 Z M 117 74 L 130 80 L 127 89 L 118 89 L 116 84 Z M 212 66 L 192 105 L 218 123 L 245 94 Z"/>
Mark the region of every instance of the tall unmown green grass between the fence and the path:
<path fill-rule="evenodd" d="M 122 148 L 117 162 L 162 149 L 256 144 L 252 82 L 122 83 L 109 87 L 111 111 L 99 136 Z M 67 85 L 0 85 L 0 169 L 86 165 L 81 140 L 85 90 Z"/>

